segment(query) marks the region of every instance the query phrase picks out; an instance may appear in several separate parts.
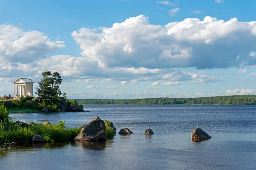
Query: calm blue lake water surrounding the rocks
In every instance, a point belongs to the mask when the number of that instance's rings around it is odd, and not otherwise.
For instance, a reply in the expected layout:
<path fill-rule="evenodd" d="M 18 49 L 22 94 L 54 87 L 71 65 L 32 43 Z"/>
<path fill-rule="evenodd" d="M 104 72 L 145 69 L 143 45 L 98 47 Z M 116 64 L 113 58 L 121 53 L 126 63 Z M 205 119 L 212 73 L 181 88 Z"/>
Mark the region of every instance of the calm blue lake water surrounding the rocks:
<path fill-rule="evenodd" d="M 11 114 L 22 122 L 68 127 L 87 124 L 97 113 L 117 133 L 107 142 L 36 144 L 0 150 L 0 170 L 255 170 L 256 106 L 84 105 L 80 113 Z M 144 135 L 150 125 L 154 134 Z M 192 142 L 199 125 L 212 139 Z"/>

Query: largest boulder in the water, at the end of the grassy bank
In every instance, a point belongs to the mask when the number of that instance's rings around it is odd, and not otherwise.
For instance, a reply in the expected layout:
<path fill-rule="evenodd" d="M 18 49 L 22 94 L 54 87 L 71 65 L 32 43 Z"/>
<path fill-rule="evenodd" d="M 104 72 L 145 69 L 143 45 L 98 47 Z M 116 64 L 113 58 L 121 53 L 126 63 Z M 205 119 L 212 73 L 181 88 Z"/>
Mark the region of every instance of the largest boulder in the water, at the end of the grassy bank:
<path fill-rule="evenodd" d="M 85 125 L 74 141 L 105 141 L 106 126 L 102 119 L 96 116 L 87 125 Z"/>

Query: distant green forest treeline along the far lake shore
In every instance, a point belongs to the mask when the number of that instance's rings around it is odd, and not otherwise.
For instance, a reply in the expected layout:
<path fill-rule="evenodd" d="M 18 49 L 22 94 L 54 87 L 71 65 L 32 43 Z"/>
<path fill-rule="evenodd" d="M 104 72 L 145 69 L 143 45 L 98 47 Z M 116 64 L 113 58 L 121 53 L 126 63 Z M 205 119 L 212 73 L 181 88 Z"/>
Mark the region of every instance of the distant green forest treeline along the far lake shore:
<path fill-rule="evenodd" d="M 197 98 L 76 99 L 82 105 L 256 105 L 256 95 Z"/>

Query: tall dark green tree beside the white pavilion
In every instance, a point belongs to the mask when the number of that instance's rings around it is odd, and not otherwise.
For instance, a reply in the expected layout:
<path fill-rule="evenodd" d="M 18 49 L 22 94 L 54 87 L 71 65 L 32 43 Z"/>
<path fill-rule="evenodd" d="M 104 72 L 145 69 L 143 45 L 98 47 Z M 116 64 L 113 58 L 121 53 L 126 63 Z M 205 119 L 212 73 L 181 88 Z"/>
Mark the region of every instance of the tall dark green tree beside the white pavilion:
<path fill-rule="evenodd" d="M 45 71 L 43 74 L 43 79 L 38 82 L 38 87 L 36 88 L 37 94 L 42 99 L 56 99 L 61 95 L 59 86 L 61 85 L 62 79 L 58 72 Z"/>

